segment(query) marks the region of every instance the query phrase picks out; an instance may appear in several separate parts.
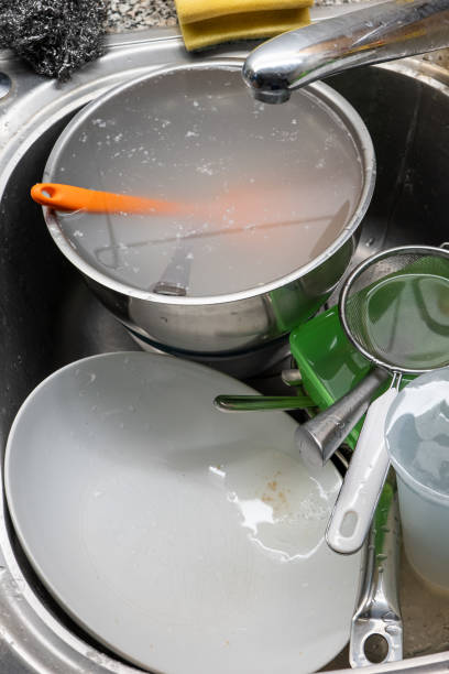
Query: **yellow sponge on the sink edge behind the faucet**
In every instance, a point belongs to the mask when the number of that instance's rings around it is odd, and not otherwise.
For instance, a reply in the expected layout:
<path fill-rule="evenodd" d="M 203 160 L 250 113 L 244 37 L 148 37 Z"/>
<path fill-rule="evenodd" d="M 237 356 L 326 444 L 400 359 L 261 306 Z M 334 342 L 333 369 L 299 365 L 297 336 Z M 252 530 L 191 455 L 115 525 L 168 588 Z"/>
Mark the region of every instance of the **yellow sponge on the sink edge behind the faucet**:
<path fill-rule="evenodd" d="M 271 37 L 310 23 L 314 0 L 175 0 L 188 51 Z"/>

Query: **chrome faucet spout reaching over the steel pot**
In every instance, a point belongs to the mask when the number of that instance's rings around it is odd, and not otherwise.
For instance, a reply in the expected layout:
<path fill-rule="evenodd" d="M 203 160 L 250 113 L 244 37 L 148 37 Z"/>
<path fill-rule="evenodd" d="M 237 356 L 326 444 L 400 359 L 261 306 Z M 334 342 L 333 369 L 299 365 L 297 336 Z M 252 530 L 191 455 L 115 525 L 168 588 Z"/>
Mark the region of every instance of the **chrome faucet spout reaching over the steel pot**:
<path fill-rule="evenodd" d="M 283 33 L 243 66 L 254 97 L 281 104 L 315 79 L 449 46 L 449 0 L 390 0 Z"/>

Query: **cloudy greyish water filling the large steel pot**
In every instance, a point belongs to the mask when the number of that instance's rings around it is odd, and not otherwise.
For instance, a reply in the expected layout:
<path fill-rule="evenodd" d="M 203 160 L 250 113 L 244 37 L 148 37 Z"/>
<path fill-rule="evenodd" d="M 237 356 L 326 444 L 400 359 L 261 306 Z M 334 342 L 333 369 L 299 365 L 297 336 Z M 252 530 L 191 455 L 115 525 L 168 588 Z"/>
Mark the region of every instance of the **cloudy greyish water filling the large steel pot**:
<path fill-rule="evenodd" d="M 58 214 L 92 267 L 188 296 L 258 287 L 341 233 L 362 191 L 359 150 L 311 91 L 254 101 L 239 70 L 178 70 L 84 120 L 51 182 L 187 203 L 179 216 Z"/>

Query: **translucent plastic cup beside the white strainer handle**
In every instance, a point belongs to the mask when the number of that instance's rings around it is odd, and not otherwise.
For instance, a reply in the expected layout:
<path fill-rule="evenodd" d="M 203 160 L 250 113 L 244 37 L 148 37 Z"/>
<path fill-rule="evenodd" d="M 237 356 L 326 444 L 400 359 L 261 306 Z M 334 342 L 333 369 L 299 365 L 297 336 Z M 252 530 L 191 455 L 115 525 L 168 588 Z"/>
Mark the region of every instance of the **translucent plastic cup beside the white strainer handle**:
<path fill-rule="evenodd" d="M 436 589 L 449 591 L 449 367 L 401 391 L 386 417 L 385 442 L 408 561 Z"/>

